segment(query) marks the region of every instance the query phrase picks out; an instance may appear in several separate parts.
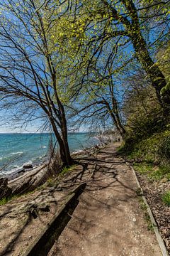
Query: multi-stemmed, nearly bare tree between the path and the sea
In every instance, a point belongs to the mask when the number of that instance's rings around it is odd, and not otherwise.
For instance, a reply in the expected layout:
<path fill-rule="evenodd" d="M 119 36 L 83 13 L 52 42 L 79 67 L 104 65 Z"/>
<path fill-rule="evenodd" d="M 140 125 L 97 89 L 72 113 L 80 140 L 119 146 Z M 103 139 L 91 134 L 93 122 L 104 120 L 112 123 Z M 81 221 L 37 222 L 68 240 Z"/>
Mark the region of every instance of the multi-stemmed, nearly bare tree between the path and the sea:
<path fill-rule="evenodd" d="M 45 11 L 51 7 L 50 1 L 8 0 L 1 4 L 0 91 L 2 100 L 33 102 L 38 111 L 46 114 L 60 146 L 62 163 L 68 166 L 72 157 L 60 96 L 63 81 L 58 80 L 53 61 L 50 23 L 44 19 Z"/>

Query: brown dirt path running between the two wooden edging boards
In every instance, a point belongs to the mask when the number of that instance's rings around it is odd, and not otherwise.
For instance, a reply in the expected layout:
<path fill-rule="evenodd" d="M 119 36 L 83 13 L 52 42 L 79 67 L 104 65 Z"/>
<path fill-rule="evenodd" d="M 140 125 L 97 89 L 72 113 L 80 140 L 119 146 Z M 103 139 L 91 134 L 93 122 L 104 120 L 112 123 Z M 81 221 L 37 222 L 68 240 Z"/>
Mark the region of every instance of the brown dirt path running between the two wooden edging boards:
<path fill-rule="evenodd" d="M 132 171 L 115 149 L 106 146 L 97 155 L 94 179 L 48 256 L 162 255 L 154 233 L 147 230 Z M 89 165 L 86 174 L 93 169 Z"/>

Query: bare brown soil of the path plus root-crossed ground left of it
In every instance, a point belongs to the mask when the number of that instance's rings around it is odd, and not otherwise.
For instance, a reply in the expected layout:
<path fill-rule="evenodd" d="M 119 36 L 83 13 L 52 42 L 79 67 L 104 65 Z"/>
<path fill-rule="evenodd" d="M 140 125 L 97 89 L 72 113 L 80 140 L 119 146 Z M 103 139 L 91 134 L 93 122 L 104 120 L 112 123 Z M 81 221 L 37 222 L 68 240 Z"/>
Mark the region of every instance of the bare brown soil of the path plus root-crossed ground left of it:
<path fill-rule="evenodd" d="M 86 159 L 79 159 L 80 165 L 60 178 L 59 185 L 57 180 L 1 206 L 0 255 L 22 255 L 69 191 L 86 181 L 71 220 L 48 256 L 161 256 L 140 208 L 132 170 L 116 154 L 118 146 L 85 154 Z M 40 210 L 42 206 L 50 211 Z"/>

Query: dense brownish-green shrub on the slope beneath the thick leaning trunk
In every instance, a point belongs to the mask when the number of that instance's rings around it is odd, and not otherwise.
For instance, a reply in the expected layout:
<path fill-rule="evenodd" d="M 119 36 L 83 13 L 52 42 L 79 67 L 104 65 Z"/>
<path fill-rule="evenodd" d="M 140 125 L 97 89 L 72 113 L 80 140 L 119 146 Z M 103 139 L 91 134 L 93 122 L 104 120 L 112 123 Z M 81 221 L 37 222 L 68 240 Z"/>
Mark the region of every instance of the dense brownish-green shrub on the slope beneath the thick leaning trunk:
<path fill-rule="evenodd" d="M 168 123 L 164 120 L 162 107 L 149 81 L 144 81 L 141 70 L 126 78 L 128 91 L 123 102 L 123 114 L 126 119 L 128 137 L 141 139 L 154 132 L 162 131 Z"/>

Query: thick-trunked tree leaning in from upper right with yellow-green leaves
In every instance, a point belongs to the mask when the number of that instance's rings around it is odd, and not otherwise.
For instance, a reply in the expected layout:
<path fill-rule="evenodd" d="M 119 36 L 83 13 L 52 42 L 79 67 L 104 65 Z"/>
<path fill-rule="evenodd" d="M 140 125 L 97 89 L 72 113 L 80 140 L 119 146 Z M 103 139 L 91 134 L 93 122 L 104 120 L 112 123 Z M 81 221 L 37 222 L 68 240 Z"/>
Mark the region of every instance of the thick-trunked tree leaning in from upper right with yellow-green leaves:
<path fill-rule="evenodd" d="M 82 25 L 79 26 L 79 31 L 77 30 L 77 37 L 81 35 L 81 27 L 82 33 L 89 38 L 86 39 L 85 50 L 86 54 L 89 53 L 89 63 L 94 58 L 98 59 L 106 47 L 110 48 L 112 54 L 114 48 L 121 50 L 121 45 L 126 46 L 127 52 L 132 53 L 132 57 L 135 52 L 135 58 L 142 65 L 156 90 L 159 104 L 165 112 L 169 110 L 170 92 L 169 90 L 166 90 L 166 93 L 162 91 L 162 88 L 166 86 L 166 79 L 157 62 L 153 60 L 151 52 L 154 50 L 155 53 L 155 42 L 162 41 L 168 35 L 169 1 L 149 1 L 148 3 L 148 1 L 101 0 L 94 1 L 91 9 L 89 6 L 90 1 L 79 1 L 75 10 L 77 18 L 82 16 Z M 86 21 L 86 26 L 84 21 Z M 156 38 L 151 35 L 151 31 L 154 33 L 155 30 L 157 30 Z M 151 43 L 148 41 L 152 41 L 151 49 Z M 106 65 L 110 61 L 108 58 Z"/>

